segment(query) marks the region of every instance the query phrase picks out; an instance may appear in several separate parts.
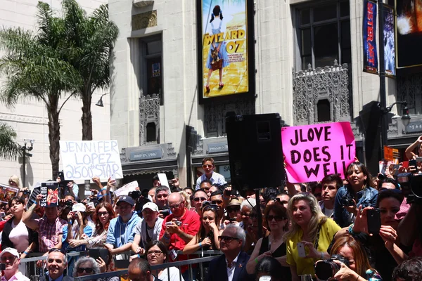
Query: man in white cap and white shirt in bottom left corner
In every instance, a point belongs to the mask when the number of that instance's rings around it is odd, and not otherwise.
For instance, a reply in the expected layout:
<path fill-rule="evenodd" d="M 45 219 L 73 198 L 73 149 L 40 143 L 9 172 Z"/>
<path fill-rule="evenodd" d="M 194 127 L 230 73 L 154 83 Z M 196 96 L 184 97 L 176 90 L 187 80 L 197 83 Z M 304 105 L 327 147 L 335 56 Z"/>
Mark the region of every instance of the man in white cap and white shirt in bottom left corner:
<path fill-rule="evenodd" d="M 1 276 L 1 281 L 23 280 L 30 281 L 19 271 L 20 256 L 16 249 L 6 248 L 0 254 L 0 262 L 5 263 L 4 275 Z"/>

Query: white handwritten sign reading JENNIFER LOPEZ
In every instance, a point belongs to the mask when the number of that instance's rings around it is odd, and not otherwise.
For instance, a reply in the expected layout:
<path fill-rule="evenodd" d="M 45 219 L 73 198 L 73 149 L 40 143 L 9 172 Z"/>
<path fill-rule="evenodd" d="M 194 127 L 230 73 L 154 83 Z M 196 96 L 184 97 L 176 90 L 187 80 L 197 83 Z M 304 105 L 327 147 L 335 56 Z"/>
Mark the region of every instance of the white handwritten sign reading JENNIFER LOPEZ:
<path fill-rule="evenodd" d="M 60 141 L 66 180 L 123 178 L 117 141 Z"/>

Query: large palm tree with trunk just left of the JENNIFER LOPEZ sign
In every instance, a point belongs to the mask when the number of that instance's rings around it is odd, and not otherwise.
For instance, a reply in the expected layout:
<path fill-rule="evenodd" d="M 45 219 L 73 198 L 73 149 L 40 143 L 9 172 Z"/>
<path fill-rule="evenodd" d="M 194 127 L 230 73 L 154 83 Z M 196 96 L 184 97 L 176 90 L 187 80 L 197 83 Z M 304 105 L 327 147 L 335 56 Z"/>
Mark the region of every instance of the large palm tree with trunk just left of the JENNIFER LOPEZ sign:
<path fill-rule="evenodd" d="M 49 117 L 52 178 L 56 178 L 60 157 L 59 114 L 80 79 L 75 68 L 63 60 L 63 19 L 53 17 L 48 4 L 39 2 L 37 8 L 37 34 L 20 28 L 0 31 L 0 48 L 5 52 L 0 58 L 0 73 L 6 78 L 0 98 L 9 106 L 23 99 L 44 103 Z M 60 105 L 62 98 L 65 100 Z"/>

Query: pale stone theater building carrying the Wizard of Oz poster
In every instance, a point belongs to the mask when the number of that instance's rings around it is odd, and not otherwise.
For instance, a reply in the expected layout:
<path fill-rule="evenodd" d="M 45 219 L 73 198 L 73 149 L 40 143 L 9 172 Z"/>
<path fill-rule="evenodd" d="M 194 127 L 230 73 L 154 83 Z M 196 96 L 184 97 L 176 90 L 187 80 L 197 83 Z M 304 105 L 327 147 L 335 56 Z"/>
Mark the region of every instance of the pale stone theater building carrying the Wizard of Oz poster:
<path fill-rule="evenodd" d="M 216 5 L 221 11 L 214 15 Z M 373 128 L 362 124 L 378 127 L 368 118 L 374 114 L 370 105 L 380 100 L 378 74 L 363 71 L 365 5 L 363 0 L 109 1 L 110 20 L 120 28 L 110 133 L 122 148 L 124 182 L 136 179 L 148 187 L 153 174 L 164 172 L 178 176 L 182 186 L 193 185 L 203 157 L 213 157 L 216 171 L 227 178 L 230 115 L 278 112 L 285 126 L 350 122 L 357 157 L 365 159 L 373 153 L 365 143 L 378 141 L 365 138 Z M 209 51 L 212 40 L 225 47 L 217 50 L 224 58 L 223 79 L 218 67 L 208 70 L 221 63 Z M 422 74 L 416 68 L 397 70 L 385 84 L 387 105 L 408 102 L 410 124 L 401 122 L 397 105 L 388 127 L 388 145 L 403 152 L 422 132 Z"/>

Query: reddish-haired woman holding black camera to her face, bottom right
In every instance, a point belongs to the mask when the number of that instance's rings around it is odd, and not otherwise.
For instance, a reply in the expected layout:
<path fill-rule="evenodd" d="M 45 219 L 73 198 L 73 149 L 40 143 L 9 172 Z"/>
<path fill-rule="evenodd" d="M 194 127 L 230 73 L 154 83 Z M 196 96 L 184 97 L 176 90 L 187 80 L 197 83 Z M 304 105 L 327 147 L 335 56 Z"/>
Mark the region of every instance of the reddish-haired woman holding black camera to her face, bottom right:
<path fill-rule="evenodd" d="M 364 280 L 383 280 L 378 272 L 371 268 L 369 265 L 368 257 L 359 242 L 354 240 L 351 235 L 345 234 L 338 238 L 333 244 L 331 254 L 336 255 L 332 258 L 331 263 L 332 270 L 327 270 L 327 261 L 317 261 L 315 263 L 316 277 L 322 280 L 328 280 L 328 275 L 333 277 L 335 280 L 353 280 L 353 281 L 364 281 Z M 333 263 L 335 263 L 334 266 Z M 348 263 L 348 264 L 347 264 Z M 324 276 L 327 275 L 327 276 Z"/>

